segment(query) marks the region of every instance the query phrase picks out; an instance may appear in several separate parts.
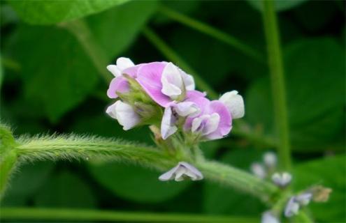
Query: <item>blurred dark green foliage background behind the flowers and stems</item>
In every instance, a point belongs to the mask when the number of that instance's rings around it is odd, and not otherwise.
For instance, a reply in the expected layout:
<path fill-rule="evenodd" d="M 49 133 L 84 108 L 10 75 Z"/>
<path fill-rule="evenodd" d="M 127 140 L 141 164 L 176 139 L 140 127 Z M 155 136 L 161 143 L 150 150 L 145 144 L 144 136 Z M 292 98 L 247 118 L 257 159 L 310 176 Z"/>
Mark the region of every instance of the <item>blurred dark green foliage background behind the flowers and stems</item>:
<path fill-rule="evenodd" d="M 112 100 L 106 98 L 104 78 L 112 77 L 106 64 L 120 56 L 134 63 L 169 60 L 157 40 L 143 32 L 150 29 L 217 93 L 236 89 L 243 95 L 244 119 L 259 139 L 231 134 L 202 147 L 210 158 L 249 170 L 274 149 L 270 142 L 275 141 L 260 5 L 254 0 L 94 1 L 94 8 L 78 8 L 78 0 L 45 1 L 43 6 L 39 1 L 1 1 L 1 121 L 13 126 L 17 136 L 76 132 L 152 144 L 147 128 L 124 132 L 106 116 Z M 263 56 L 254 59 L 177 22 L 163 6 L 224 31 Z M 87 13 L 78 14 L 83 10 Z M 344 222 L 345 2 L 277 1 L 277 12 L 294 186 L 333 188 L 328 203 L 310 208 L 319 222 Z M 1 206 L 254 217 L 266 210 L 257 199 L 213 183 L 162 183 L 158 176 L 93 160 L 25 164 Z"/>

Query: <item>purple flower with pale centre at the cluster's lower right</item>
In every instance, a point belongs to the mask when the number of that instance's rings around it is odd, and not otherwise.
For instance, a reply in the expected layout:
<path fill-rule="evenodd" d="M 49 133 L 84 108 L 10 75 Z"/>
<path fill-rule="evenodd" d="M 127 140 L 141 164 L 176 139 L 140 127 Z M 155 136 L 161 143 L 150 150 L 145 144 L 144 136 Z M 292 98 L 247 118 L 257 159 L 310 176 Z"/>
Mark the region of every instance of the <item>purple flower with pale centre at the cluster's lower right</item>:
<path fill-rule="evenodd" d="M 204 140 L 221 139 L 229 134 L 232 118 L 229 110 L 219 100 L 208 100 L 203 97 L 190 97 L 189 102 L 199 107 L 198 116 L 187 117 L 184 130 Z"/>

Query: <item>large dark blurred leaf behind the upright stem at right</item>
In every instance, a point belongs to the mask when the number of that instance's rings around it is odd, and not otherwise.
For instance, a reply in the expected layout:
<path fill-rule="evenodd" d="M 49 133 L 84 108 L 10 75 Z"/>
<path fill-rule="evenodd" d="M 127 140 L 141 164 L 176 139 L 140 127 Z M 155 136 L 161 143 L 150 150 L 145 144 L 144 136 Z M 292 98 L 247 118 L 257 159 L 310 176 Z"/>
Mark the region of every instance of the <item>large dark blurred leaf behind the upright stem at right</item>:
<path fill-rule="evenodd" d="M 325 148 L 343 130 L 345 54 L 331 38 L 299 40 L 284 50 L 291 140 L 300 151 Z M 273 134 L 268 78 L 254 82 L 245 99 L 247 120 Z"/>

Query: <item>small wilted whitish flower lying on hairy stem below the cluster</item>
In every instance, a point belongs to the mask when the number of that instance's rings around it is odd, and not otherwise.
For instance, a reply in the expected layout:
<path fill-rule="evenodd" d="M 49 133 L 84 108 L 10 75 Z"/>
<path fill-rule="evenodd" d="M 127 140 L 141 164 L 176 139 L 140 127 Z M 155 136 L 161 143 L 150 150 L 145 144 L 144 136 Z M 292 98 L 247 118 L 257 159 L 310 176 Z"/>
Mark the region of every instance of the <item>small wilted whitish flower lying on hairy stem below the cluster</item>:
<path fill-rule="evenodd" d="M 173 179 L 175 181 L 182 181 L 185 180 L 185 178 L 191 178 L 191 180 L 202 180 L 203 175 L 198 169 L 196 169 L 196 167 L 192 166 L 192 164 L 179 162 L 178 165 L 173 167 L 173 169 L 159 176 L 159 180 L 161 181 Z"/>

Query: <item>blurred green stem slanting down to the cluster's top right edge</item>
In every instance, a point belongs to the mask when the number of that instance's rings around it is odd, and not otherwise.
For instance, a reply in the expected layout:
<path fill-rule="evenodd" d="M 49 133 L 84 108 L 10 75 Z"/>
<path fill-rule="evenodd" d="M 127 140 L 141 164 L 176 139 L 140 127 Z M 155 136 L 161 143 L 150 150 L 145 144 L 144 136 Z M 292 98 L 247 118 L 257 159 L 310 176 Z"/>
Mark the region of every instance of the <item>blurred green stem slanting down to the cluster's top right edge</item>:
<path fill-rule="evenodd" d="M 150 43 L 152 43 L 152 45 L 157 47 L 159 52 L 161 52 L 162 54 L 164 54 L 164 56 L 166 56 L 168 60 L 173 61 L 173 63 L 176 63 L 178 66 L 180 66 L 180 68 L 182 68 L 189 74 L 193 75 L 196 81 L 196 85 L 199 87 L 199 89 L 201 89 L 202 91 L 208 92 L 208 95 L 210 95 L 211 98 L 218 98 L 219 94 L 217 94 L 209 86 L 209 84 L 207 84 L 207 82 L 205 82 L 201 77 L 199 77 L 196 71 L 193 70 L 178 54 L 176 54 L 174 50 L 171 49 L 171 47 L 169 47 L 164 42 L 164 40 L 159 38 L 159 36 L 157 36 L 157 34 L 154 33 L 152 29 L 145 27 L 143 29 L 143 34 L 147 38 L 147 40 L 149 40 Z"/>

